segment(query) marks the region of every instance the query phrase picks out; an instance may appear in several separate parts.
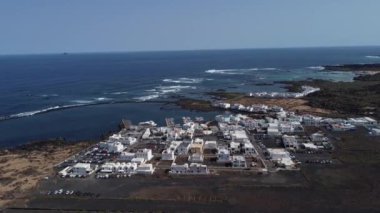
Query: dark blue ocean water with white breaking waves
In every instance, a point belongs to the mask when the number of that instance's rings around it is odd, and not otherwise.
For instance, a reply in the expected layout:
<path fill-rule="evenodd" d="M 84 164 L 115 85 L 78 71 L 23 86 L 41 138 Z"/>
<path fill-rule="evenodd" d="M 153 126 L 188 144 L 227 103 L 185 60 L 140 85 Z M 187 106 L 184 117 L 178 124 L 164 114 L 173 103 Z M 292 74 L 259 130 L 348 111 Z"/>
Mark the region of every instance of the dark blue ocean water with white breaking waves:
<path fill-rule="evenodd" d="M 98 139 L 133 122 L 201 115 L 164 106 L 216 89 L 283 91 L 281 80 L 351 81 L 322 65 L 380 62 L 380 47 L 204 50 L 0 56 L 0 146 Z"/>

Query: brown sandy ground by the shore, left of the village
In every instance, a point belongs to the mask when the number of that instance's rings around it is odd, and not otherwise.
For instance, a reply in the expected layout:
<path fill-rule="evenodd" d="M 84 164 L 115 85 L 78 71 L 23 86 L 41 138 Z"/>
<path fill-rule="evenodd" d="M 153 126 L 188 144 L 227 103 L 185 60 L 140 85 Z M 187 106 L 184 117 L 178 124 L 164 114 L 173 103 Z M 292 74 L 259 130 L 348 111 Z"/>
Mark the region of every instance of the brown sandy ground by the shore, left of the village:
<path fill-rule="evenodd" d="M 0 207 L 23 204 L 38 182 L 54 173 L 54 165 L 79 152 L 89 143 L 41 145 L 37 150 L 0 152 Z"/>

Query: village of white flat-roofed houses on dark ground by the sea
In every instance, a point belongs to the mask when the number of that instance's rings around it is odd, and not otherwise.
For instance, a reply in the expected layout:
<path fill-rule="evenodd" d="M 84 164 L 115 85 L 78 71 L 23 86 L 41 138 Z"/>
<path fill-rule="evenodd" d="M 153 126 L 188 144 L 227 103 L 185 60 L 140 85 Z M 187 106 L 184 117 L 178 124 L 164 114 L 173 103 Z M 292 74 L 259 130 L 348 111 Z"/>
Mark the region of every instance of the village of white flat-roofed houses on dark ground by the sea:
<path fill-rule="evenodd" d="M 154 121 L 133 125 L 123 120 L 118 133 L 57 165 L 58 175 L 108 179 L 297 172 L 304 163 L 334 163 L 331 132 L 360 127 L 370 135 L 380 135 L 379 124 L 370 117 L 297 115 L 266 105 L 217 102 L 214 106 L 234 113 L 217 115 L 212 121 L 183 117 L 181 124 L 166 118 L 166 126 Z"/>

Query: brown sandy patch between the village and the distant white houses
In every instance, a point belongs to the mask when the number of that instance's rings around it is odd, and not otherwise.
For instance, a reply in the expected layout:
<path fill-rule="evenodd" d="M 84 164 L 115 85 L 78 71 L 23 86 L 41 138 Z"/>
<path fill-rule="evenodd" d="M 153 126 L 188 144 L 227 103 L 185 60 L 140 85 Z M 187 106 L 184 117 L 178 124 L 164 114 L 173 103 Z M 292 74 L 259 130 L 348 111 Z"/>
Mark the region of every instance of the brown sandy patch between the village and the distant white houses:
<path fill-rule="evenodd" d="M 298 111 L 301 114 L 312 114 L 312 115 L 330 115 L 334 113 L 333 111 L 321 108 L 315 108 L 308 106 L 307 100 L 296 99 L 296 98 L 254 98 L 254 97 L 242 97 L 238 99 L 227 100 L 230 103 L 240 103 L 243 105 L 252 104 L 265 104 L 268 106 L 280 106 L 285 110 Z"/>

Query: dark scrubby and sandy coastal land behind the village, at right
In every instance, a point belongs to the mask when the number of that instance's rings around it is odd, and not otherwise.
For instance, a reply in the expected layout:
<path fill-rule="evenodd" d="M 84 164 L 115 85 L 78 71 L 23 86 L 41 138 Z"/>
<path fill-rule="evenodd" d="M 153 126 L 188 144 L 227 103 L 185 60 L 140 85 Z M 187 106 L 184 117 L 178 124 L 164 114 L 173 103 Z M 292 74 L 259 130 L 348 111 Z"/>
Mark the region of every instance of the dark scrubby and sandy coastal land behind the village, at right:
<path fill-rule="evenodd" d="M 380 67 L 380 64 L 379 64 Z M 348 71 L 348 68 L 345 68 Z M 351 72 L 363 72 L 353 71 Z M 369 71 L 373 72 L 373 71 Z M 280 106 L 301 114 L 342 116 L 373 116 L 380 118 L 380 73 L 358 75 L 353 82 L 327 80 L 281 81 L 288 92 L 300 92 L 303 86 L 320 88 L 300 98 L 250 97 L 243 93 L 227 92 L 223 89 L 209 92 L 212 101 L 223 100 L 230 104 L 264 104 Z M 188 110 L 220 111 L 212 101 L 180 99 L 178 106 Z"/>

